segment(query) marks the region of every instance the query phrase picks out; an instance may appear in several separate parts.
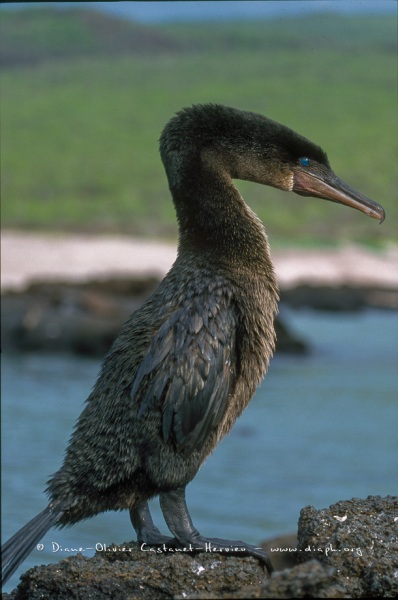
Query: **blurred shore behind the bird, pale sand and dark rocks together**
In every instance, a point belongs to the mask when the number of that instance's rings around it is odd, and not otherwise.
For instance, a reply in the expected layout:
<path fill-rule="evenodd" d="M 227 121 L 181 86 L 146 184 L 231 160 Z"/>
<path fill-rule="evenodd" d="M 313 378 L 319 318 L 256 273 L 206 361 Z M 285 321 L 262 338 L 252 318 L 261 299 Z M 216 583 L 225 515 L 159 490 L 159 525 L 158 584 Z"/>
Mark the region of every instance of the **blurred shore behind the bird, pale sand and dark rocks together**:
<path fill-rule="evenodd" d="M 2 347 L 103 356 L 156 288 L 174 244 L 119 237 L 3 232 Z M 358 311 L 398 308 L 398 249 L 372 253 L 288 250 L 274 254 L 281 305 Z M 305 352 L 280 318 L 281 352 Z"/>

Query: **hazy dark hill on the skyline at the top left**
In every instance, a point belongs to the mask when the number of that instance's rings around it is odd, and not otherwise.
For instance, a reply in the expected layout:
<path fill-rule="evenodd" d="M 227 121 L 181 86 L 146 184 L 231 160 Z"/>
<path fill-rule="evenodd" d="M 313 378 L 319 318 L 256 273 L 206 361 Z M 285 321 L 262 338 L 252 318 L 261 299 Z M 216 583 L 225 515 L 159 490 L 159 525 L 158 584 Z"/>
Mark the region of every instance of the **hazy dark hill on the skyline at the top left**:
<path fill-rule="evenodd" d="M 0 21 L 0 65 L 6 68 L 177 49 L 173 38 L 161 32 L 92 10 L 3 11 Z"/>

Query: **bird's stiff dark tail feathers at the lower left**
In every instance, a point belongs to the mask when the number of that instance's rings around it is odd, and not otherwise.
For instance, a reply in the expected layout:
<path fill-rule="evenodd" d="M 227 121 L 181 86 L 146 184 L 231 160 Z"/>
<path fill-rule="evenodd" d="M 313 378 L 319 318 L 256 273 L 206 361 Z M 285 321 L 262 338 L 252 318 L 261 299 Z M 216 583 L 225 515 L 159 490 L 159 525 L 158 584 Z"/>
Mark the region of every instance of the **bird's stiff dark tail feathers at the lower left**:
<path fill-rule="evenodd" d="M 58 521 L 61 512 L 60 507 L 50 504 L 3 544 L 1 547 L 2 585 L 17 570 L 37 542 Z"/>

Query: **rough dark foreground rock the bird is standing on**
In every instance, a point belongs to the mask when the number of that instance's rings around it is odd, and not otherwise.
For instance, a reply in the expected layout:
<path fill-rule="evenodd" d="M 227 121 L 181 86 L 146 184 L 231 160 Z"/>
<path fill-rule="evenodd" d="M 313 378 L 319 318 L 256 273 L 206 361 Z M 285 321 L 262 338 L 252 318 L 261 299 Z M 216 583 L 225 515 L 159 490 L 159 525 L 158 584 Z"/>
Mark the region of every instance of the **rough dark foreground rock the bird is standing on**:
<path fill-rule="evenodd" d="M 393 598 L 398 594 L 397 496 L 369 496 L 302 509 L 297 536 L 264 542 L 270 577 L 254 558 L 144 551 L 109 543 L 34 567 L 3 600 Z"/>

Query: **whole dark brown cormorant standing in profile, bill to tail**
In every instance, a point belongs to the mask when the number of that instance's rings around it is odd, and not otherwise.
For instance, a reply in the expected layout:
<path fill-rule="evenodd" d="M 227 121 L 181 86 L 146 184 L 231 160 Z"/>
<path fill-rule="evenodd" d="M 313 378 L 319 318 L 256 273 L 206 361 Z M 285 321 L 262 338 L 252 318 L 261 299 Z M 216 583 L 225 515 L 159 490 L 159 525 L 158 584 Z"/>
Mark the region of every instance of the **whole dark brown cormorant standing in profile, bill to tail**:
<path fill-rule="evenodd" d="M 384 211 L 341 182 L 321 148 L 254 113 L 185 109 L 165 127 L 160 151 L 179 223 L 178 258 L 105 358 L 49 481 L 49 506 L 4 545 L 5 579 L 52 525 L 122 509 L 141 542 L 244 546 L 271 570 L 262 550 L 201 536 L 185 504 L 185 486 L 249 403 L 274 350 L 278 292 L 268 242 L 232 179 L 380 220 Z M 174 538 L 152 522 L 147 501 L 157 495 Z"/>

